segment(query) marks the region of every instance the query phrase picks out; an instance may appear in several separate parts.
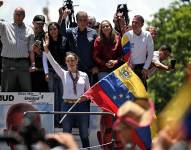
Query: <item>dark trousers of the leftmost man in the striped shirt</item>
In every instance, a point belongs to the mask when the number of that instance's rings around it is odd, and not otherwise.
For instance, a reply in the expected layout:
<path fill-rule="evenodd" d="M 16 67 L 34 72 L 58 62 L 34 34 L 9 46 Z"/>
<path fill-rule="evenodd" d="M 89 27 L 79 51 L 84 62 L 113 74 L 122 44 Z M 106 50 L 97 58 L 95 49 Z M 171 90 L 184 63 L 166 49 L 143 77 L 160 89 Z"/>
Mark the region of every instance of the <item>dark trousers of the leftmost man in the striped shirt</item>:
<path fill-rule="evenodd" d="M 3 92 L 31 92 L 31 76 L 27 58 L 2 58 Z"/>

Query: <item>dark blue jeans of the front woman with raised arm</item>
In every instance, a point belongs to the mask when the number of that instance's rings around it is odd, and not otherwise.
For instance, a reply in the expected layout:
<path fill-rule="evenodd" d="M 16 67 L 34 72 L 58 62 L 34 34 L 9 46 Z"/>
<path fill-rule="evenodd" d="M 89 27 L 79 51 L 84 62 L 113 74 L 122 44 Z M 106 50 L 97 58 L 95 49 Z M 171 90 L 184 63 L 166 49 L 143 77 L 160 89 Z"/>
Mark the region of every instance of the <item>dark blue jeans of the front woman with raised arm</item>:
<path fill-rule="evenodd" d="M 73 104 L 62 103 L 62 111 L 68 111 Z M 90 102 L 85 101 L 77 104 L 73 109 L 73 112 L 89 112 L 90 111 Z M 71 111 L 71 112 L 72 112 Z M 89 147 L 89 115 L 67 115 L 63 120 L 63 132 L 72 132 L 72 127 L 75 123 L 79 126 L 80 138 L 82 141 L 82 146 Z"/>

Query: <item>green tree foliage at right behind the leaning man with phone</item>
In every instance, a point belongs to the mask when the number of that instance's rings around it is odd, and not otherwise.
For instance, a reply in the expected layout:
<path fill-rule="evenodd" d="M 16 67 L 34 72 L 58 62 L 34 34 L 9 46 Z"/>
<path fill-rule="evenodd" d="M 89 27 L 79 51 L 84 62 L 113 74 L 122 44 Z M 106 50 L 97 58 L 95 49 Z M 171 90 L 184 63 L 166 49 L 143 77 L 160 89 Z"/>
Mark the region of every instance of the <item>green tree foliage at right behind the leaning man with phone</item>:
<path fill-rule="evenodd" d="M 160 111 L 182 85 L 185 66 L 191 63 L 191 3 L 176 1 L 167 9 L 161 8 L 148 24 L 159 29 L 155 48 L 169 44 L 177 60 L 174 71 L 160 71 L 149 79 L 149 93 Z"/>

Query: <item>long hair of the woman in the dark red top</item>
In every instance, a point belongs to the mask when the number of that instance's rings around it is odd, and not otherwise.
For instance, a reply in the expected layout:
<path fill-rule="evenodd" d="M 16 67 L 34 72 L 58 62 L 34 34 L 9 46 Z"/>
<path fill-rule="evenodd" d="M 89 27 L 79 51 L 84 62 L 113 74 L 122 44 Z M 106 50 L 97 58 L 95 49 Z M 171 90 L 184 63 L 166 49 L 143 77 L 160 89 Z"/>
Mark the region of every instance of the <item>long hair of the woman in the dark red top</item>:
<path fill-rule="evenodd" d="M 107 22 L 109 24 L 110 28 L 111 28 L 109 42 L 114 43 L 115 42 L 115 33 L 113 32 L 113 27 L 112 27 L 111 23 L 108 20 L 103 20 L 100 23 L 100 26 L 99 26 L 100 41 L 101 41 L 102 44 L 105 44 L 106 41 L 108 41 L 108 39 L 105 37 L 104 33 L 102 32 L 102 25 L 103 25 L 104 22 Z"/>

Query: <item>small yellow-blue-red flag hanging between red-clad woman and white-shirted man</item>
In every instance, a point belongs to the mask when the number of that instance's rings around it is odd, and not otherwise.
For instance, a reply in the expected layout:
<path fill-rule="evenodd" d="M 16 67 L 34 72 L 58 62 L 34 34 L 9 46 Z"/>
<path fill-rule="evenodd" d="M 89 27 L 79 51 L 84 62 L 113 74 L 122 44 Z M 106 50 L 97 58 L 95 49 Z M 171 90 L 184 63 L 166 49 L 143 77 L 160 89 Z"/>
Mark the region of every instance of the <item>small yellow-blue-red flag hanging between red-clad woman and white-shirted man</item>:
<path fill-rule="evenodd" d="M 131 55 L 131 44 L 129 41 L 129 38 L 127 35 L 124 34 L 124 36 L 121 39 L 121 44 L 123 48 L 123 60 L 125 62 L 129 62 L 130 60 L 130 55 Z"/>

